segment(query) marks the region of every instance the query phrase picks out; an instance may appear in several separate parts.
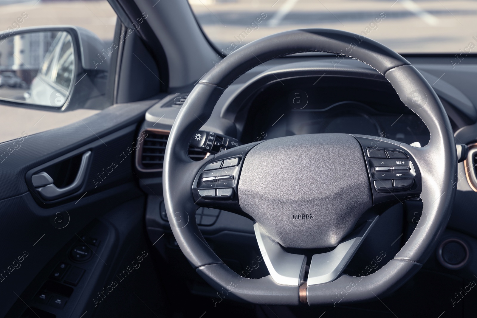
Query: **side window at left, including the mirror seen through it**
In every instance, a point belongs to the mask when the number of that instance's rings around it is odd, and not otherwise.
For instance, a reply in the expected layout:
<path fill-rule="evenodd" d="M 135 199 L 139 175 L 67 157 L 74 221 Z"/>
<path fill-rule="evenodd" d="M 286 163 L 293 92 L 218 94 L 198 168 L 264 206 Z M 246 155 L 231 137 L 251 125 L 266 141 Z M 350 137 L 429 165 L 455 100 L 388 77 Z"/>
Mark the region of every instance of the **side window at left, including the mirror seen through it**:
<path fill-rule="evenodd" d="M 111 106 L 120 26 L 107 0 L 7 1 L 0 12 L 0 143 Z"/>

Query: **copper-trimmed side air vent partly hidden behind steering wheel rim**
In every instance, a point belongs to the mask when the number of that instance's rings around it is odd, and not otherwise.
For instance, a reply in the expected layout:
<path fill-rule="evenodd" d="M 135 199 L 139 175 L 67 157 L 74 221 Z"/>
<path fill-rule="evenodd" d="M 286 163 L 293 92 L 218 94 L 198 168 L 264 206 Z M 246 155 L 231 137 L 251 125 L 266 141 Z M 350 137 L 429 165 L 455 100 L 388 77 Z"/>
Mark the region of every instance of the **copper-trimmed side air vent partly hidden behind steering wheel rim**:
<path fill-rule="evenodd" d="M 146 129 L 141 135 L 145 138 L 139 143 L 136 154 L 137 169 L 144 172 L 159 172 L 164 166 L 164 153 L 166 151 L 169 131 L 161 129 Z M 199 161 L 207 156 L 207 152 L 200 148 L 189 146 L 189 157 Z"/>

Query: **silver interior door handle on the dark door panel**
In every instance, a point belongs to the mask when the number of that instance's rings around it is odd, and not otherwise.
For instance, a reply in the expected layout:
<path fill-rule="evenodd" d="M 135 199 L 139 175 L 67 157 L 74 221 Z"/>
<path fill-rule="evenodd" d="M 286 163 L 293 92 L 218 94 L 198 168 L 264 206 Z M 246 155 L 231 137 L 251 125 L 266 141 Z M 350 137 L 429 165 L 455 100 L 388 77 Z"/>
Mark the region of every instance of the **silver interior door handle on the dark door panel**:
<path fill-rule="evenodd" d="M 41 172 L 31 176 L 31 182 L 33 185 L 41 186 L 37 188 L 40 195 L 43 199 L 54 200 L 62 196 L 70 195 L 78 191 L 83 185 L 84 178 L 86 176 L 86 168 L 88 166 L 89 158 L 91 157 L 91 151 L 87 151 L 83 154 L 81 158 L 80 168 L 78 169 L 78 174 L 71 185 L 65 186 L 64 188 L 58 188 L 56 185 L 53 185 L 52 177 L 46 172 Z M 44 185 L 44 186 L 43 186 Z"/>

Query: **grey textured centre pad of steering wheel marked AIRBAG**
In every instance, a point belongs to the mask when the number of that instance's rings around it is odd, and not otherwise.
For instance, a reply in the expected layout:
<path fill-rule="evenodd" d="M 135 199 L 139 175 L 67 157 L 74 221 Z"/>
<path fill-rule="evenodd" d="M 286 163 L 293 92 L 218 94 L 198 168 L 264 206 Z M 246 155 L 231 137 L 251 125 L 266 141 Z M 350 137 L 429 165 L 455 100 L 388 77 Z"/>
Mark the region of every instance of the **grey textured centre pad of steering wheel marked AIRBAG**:
<path fill-rule="evenodd" d="M 270 139 L 245 157 L 239 204 L 282 246 L 336 246 L 372 205 L 360 144 L 344 133 Z"/>

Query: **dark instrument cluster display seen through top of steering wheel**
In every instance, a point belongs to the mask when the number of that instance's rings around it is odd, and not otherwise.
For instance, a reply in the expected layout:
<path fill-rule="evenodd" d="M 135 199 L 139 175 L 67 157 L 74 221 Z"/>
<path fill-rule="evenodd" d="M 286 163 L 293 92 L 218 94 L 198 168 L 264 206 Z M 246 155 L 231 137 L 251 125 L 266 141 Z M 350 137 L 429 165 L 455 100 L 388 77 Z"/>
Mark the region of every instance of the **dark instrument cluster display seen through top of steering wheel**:
<path fill-rule="evenodd" d="M 250 104 L 241 140 L 353 133 L 426 145 L 427 127 L 392 90 L 389 83 L 351 76 L 275 82 Z"/>

